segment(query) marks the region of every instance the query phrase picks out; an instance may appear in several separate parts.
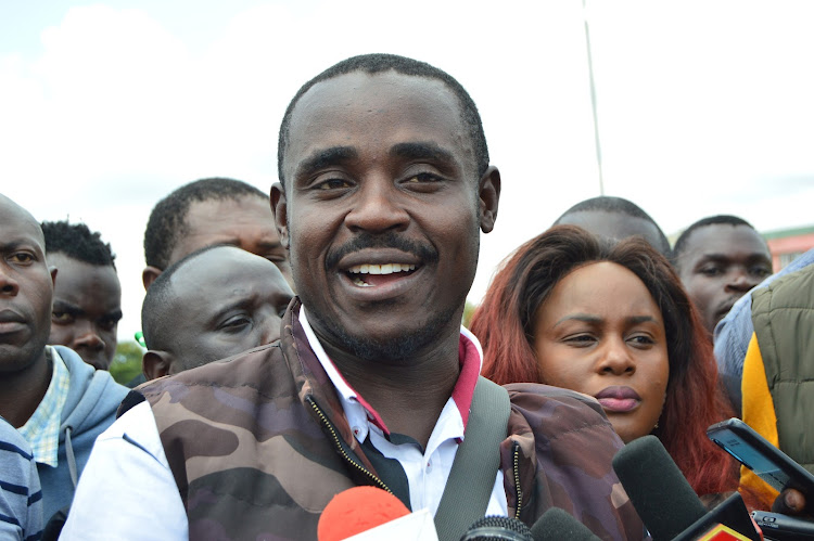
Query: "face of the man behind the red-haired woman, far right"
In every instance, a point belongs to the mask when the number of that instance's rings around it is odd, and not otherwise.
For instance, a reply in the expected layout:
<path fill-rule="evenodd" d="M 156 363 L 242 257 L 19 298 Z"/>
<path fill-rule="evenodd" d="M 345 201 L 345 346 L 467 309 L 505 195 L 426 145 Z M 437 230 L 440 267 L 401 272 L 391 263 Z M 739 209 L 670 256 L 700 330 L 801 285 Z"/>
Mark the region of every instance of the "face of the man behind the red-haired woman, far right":
<path fill-rule="evenodd" d="M 678 275 L 710 333 L 736 300 L 772 274 L 766 243 L 749 226 L 704 226 L 685 246 Z"/>

